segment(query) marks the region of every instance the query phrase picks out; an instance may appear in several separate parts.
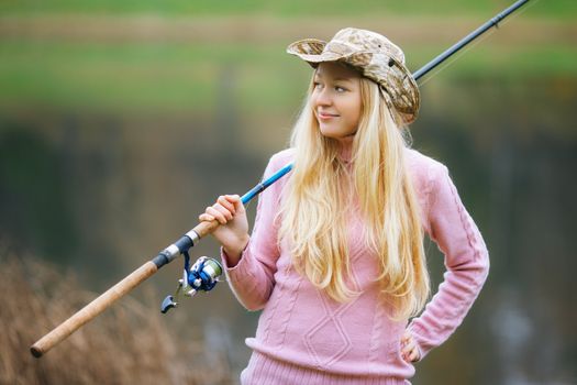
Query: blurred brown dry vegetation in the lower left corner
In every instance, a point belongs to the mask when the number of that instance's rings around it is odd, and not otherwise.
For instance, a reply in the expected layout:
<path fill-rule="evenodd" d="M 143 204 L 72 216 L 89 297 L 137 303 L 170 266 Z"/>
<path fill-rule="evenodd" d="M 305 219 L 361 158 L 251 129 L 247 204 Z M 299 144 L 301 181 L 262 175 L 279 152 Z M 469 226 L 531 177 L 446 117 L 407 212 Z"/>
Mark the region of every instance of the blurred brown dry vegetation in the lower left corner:
<path fill-rule="evenodd" d="M 71 274 L 0 250 L 0 384 L 230 384 L 228 362 L 123 298 L 41 359 L 29 348 L 96 297 Z"/>

